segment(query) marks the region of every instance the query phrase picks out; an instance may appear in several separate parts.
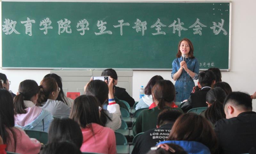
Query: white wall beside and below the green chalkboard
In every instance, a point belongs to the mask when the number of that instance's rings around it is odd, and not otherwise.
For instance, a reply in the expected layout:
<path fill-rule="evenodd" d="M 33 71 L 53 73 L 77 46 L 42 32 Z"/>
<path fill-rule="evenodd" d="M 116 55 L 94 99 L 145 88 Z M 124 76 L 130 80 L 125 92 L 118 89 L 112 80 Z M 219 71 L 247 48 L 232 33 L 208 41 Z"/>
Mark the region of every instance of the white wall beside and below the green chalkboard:
<path fill-rule="evenodd" d="M 114 1 L 114 0 L 112 0 Z M 142 0 L 140 0 L 142 1 Z M 144 0 L 143 0 L 144 1 Z M 179 0 L 175 0 L 179 1 Z M 190 0 L 189 0 L 190 1 Z M 197 0 L 198 1 L 198 0 Z M 205 1 L 205 0 L 201 0 Z M 223 1 L 223 0 L 219 0 Z M 185 1 L 180 1 L 185 2 Z M 222 80 L 228 82 L 233 91 L 243 91 L 252 94 L 256 91 L 256 48 L 255 48 L 255 0 L 232 0 L 232 46 L 231 46 L 231 71 L 222 72 Z M 1 5 L 1 4 L 0 4 Z M 1 7 L 1 6 L 0 6 Z M 0 16 L 1 18 L 1 16 Z M 1 23 L 2 23 L 1 19 Z M 1 26 L 2 27 L 2 26 Z M 2 33 L 2 31 L 1 31 Z M 2 49 L 2 41 L 0 47 Z M 2 54 L 1 54 L 2 55 Z M 1 61 L 2 58 L 0 58 Z M 2 63 L 2 62 L 1 62 Z M 34 79 L 39 84 L 44 75 L 50 70 L 0 70 L 12 81 L 10 90 L 17 92 L 19 83 L 24 79 Z M 140 85 L 146 86 L 148 80 L 161 75 L 164 79 L 171 79 L 170 71 L 133 71 L 132 95 L 139 99 Z M 197 81 L 195 81 L 197 82 Z M 256 111 L 256 100 L 253 100 Z"/>

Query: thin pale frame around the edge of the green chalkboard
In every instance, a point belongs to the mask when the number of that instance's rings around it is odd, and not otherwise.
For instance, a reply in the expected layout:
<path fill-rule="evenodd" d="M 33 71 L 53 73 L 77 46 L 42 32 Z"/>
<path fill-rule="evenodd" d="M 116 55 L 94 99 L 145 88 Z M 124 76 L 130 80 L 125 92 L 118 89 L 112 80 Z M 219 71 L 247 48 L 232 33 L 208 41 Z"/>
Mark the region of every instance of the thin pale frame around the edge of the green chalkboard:
<path fill-rule="evenodd" d="M 87 1 L 87 0 L 2 0 L 2 2 L 105 2 L 105 3 L 229 3 L 229 44 L 228 44 L 228 69 L 220 69 L 221 71 L 230 71 L 231 70 L 231 34 L 232 34 L 232 2 L 231 1 Z M 1 1 L 0 1 L 1 3 Z M 2 5 L 2 4 L 1 4 Z M 2 12 L 2 11 L 1 11 Z M 0 13 L 1 14 L 1 13 Z M 1 15 L 2 16 L 2 15 Z M 0 17 L 1 18 L 1 17 Z M 1 22 L 2 27 L 2 22 Z M 3 32 L 1 31 L 1 36 L 3 35 Z M 2 66 L 2 44 L 0 44 L 1 48 L 1 66 Z M 60 67 L 1 67 L 1 69 L 21 69 L 21 70 L 30 70 L 30 69 L 36 69 L 36 70 L 53 70 L 53 69 L 59 69 L 59 70 L 95 70 L 95 69 L 107 69 L 107 68 L 60 68 Z M 153 68 L 113 68 L 115 70 L 166 70 L 170 71 L 172 69 L 153 69 Z M 200 69 L 200 70 L 207 70 L 207 69 Z"/>

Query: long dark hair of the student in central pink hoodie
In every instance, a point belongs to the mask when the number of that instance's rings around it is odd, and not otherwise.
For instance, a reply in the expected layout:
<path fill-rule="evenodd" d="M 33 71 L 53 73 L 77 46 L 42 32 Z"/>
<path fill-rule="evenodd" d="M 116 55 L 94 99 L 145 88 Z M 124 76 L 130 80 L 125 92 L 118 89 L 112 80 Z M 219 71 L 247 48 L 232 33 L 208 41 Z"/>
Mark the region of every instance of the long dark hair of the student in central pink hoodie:
<path fill-rule="evenodd" d="M 82 128 L 92 129 L 92 123 L 103 125 L 100 120 L 99 106 L 100 102 L 96 97 L 81 95 L 74 100 L 69 117 Z"/>

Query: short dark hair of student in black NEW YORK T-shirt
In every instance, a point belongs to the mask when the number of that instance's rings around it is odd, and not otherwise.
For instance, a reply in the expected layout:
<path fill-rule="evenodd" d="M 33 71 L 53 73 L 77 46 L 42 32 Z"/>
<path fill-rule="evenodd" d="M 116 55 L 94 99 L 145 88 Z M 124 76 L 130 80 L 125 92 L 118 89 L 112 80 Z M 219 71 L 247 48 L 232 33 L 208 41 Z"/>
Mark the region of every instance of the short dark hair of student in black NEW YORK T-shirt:
<path fill-rule="evenodd" d="M 175 122 L 176 119 L 181 115 L 182 113 L 178 110 L 173 110 L 171 108 L 166 108 L 162 112 L 160 112 L 157 116 L 157 125 L 162 126 L 169 122 Z"/>

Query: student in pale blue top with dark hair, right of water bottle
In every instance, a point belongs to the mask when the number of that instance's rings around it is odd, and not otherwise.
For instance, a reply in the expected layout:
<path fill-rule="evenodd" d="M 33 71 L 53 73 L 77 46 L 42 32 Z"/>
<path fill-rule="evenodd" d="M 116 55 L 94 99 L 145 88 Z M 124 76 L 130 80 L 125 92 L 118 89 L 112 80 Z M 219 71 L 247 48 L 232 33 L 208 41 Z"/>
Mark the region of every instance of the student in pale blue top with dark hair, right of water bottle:
<path fill-rule="evenodd" d="M 148 84 L 146 85 L 146 87 L 144 89 L 145 96 L 139 100 L 138 104 L 135 107 L 136 110 L 138 110 L 140 108 L 147 108 L 153 103 L 151 90 L 158 80 L 164 80 L 164 78 L 159 75 L 156 75 L 148 81 Z"/>

